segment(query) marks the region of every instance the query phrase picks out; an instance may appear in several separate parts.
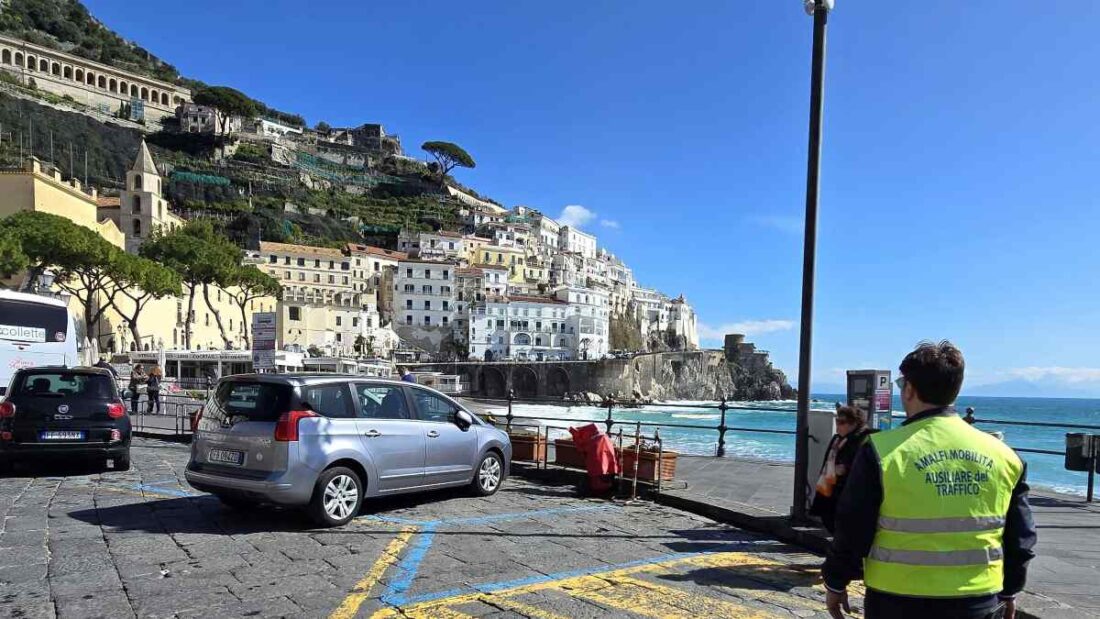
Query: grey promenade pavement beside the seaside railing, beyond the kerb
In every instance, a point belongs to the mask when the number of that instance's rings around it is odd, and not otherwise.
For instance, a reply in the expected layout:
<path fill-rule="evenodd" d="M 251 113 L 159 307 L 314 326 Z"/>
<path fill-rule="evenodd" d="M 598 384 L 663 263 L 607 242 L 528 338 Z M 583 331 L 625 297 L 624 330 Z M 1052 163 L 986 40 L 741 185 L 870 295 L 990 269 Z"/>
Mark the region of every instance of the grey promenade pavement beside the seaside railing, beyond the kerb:
<path fill-rule="evenodd" d="M 762 461 L 680 456 L 676 477 L 683 484 L 668 490 L 673 499 L 713 506 L 723 520 L 762 530 L 788 527 L 794 467 Z M 683 504 L 685 507 L 686 502 Z M 1082 497 L 1032 489 L 1038 527 L 1038 555 L 1031 563 L 1020 607 L 1040 617 L 1100 617 L 1100 502 Z M 703 509 L 702 511 L 706 511 Z M 823 548 L 822 530 L 791 531 L 811 548 Z"/>

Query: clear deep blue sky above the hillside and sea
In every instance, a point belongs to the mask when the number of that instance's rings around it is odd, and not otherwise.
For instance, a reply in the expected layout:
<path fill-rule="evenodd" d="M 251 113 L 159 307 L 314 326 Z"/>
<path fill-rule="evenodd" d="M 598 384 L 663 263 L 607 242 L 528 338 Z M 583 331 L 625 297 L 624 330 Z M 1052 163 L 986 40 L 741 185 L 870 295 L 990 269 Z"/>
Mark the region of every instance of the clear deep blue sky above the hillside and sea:
<path fill-rule="evenodd" d="M 582 215 L 705 344 L 798 365 L 811 19 L 799 0 L 162 2 L 89 9 L 188 76 Z M 814 377 L 921 339 L 971 385 L 1100 395 L 1100 3 L 838 0 L 831 18 Z"/>

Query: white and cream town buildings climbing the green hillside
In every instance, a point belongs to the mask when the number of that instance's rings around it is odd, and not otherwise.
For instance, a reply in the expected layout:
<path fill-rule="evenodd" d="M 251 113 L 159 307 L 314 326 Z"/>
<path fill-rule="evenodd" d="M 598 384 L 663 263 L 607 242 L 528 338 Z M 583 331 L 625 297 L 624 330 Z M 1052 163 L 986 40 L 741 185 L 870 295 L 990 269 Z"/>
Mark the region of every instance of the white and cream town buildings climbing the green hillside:
<path fill-rule="evenodd" d="M 0 36 L 0 69 L 23 86 L 62 97 L 63 107 L 112 123 L 136 123 L 146 134 L 229 137 L 217 156 L 258 147 L 302 178 L 343 185 L 349 192 L 355 187 L 346 170 L 369 173 L 378 158 L 425 170 L 436 165 L 407 156 L 399 136 L 381 124 L 309 129 L 233 114 L 194 102 L 182 86 L 8 36 Z M 179 229 L 194 213 L 168 198 L 167 186 L 178 174 L 169 179 L 144 141 L 133 157 L 121 188 L 85 186 L 65 178 L 53 162 L 25 157 L 0 174 L 6 195 L 15 197 L 0 205 L 0 215 L 57 214 L 139 254 L 148 239 Z M 151 300 L 140 324 L 130 324 L 127 312 L 113 307 L 74 307 L 98 316 L 95 333 L 80 338 L 102 353 L 209 357 L 220 352 L 226 369 L 243 368 L 252 313 L 273 311 L 278 367 L 288 369 L 318 367 L 321 360 L 362 369 L 366 358 L 572 361 L 698 349 L 696 317 L 683 296 L 639 285 L 631 268 L 600 246 L 595 235 L 537 209 L 506 209 L 454 184 L 444 183 L 443 189 L 460 205 L 453 229 L 403 226 L 381 239 L 386 246 L 307 245 L 254 234 L 239 240 L 243 263 L 277 280 L 279 294 L 239 307 L 238 291 L 213 286 L 204 290 L 207 303 L 186 310 L 185 290 L 184 297 Z M 284 208 L 298 210 L 292 202 Z M 616 342 L 612 327 L 617 321 L 636 336 Z M 176 368 L 184 373 L 183 364 Z"/>

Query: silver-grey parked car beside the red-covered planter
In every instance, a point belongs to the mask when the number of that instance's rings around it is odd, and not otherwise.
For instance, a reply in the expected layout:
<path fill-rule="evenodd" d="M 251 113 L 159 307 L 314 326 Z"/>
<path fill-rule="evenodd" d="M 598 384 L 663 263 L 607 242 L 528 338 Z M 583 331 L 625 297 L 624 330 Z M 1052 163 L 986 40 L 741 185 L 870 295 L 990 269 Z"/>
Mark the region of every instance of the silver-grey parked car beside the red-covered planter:
<path fill-rule="evenodd" d="M 508 435 L 435 389 L 366 376 L 252 374 L 218 383 L 195 421 L 188 483 L 230 507 L 301 507 L 319 524 L 364 497 L 499 489 Z"/>

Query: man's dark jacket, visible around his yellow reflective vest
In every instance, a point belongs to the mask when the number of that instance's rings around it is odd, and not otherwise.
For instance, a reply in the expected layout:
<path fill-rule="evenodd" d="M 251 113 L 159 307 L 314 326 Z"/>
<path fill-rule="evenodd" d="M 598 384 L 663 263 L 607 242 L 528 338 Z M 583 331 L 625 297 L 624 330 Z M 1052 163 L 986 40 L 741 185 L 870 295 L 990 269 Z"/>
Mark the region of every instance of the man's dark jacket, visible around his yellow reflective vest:
<path fill-rule="evenodd" d="M 908 425 L 935 416 L 955 414 L 955 409 L 935 408 L 906 419 Z M 1004 587 L 1001 598 L 1015 596 L 1024 588 L 1027 578 L 1027 562 L 1035 556 L 1035 522 L 1031 506 L 1027 505 L 1027 467 L 1012 490 L 1012 500 L 1004 520 Z M 871 550 L 875 531 L 878 528 L 879 508 L 882 505 L 882 466 L 879 455 L 868 440 L 859 450 L 856 463 L 848 475 L 848 483 L 840 495 L 836 509 L 836 531 L 822 567 L 825 586 L 834 592 L 843 592 L 848 583 L 862 578 L 864 557 Z M 913 598 L 867 592 L 867 611 L 881 617 L 985 617 L 998 605 L 997 595 L 960 598 L 923 598 L 914 604 Z M 912 615 L 911 615 L 912 614 Z"/>

